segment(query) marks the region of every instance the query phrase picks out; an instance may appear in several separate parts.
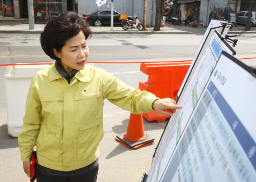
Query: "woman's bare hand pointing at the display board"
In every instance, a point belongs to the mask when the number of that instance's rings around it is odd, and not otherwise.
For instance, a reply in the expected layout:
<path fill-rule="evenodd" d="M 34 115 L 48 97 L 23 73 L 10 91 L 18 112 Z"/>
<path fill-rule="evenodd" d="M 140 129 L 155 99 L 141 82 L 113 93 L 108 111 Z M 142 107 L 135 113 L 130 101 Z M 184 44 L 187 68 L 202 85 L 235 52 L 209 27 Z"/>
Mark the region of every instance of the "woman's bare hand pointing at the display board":
<path fill-rule="evenodd" d="M 165 116 L 173 116 L 176 109 L 182 108 L 180 105 L 176 105 L 176 101 L 171 98 L 157 99 L 152 103 L 152 108 Z"/>

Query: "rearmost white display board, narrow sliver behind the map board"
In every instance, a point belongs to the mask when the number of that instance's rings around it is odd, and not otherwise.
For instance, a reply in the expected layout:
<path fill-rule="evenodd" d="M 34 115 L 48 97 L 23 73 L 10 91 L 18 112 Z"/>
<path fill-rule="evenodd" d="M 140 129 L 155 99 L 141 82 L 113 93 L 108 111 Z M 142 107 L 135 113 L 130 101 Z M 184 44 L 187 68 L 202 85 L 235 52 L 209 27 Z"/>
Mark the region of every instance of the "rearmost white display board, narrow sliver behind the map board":
<path fill-rule="evenodd" d="M 223 36 L 225 36 L 225 35 L 228 33 L 229 28 L 228 28 L 227 26 L 225 26 L 225 27 L 224 27 L 224 26 L 220 26 L 220 25 L 223 24 L 223 23 L 228 23 L 228 21 L 227 21 L 227 20 L 215 20 L 215 19 L 213 19 L 213 20 L 210 21 L 210 24 L 208 25 L 207 30 L 206 30 L 205 33 L 204 33 L 204 37 L 203 37 L 203 39 L 201 40 L 200 45 L 199 45 L 198 48 L 197 48 L 197 52 L 196 52 L 196 54 L 194 55 L 194 58 L 193 58 L 193 60 L 192 60 L 192 62 L 191 62 L 191 65 L 190 65 L 190 67 L 189 67 L 189 69 L 188 69 L 188 72 L 187 72 L 187 74 L 185 75 L 185 79 L 184 79 L 184 81 L 182 82 L 182 85 L 181 85 L 181 87 L 180 87 L 180 89 L 179 89 L 179 92 L 178 92 L 178 94 L 177 94 L 178 97 L 180 96 L 180 93 L 181 93 L 181 91 L 182 91 L 182 88 L 183 88 L 184 85 L 185 85 L 185 81 L 187 80 L 188 75 L 190 74 L 191 69 L 192 69 L 192 67 L 194 66 L 194 63 L 195 63 L 196 60 L 197 60 L 198 54 L 200 53 L 200 51 L 204 51 L 204 49 L 202 49 L 202 47 L 203 47 L 203 45 L 204 45 L 205 40 L 206 40 L 207 37 L 209 36 L 209 32 L 212 31 L 212 30 L 217 30 L 219 33 L 221 33 L 221 32 L 223 31 L 223 33 L 222 33 Z M 231 24 L 228 24 L 228 25 L 231 25 Z"/>

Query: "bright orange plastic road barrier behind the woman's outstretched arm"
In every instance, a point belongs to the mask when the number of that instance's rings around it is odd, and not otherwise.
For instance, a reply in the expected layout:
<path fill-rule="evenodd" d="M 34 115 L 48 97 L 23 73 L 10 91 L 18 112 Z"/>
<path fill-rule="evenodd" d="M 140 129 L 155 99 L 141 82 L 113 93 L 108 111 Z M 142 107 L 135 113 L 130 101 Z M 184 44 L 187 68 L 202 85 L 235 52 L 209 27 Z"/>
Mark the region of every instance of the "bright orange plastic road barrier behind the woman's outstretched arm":
<path fill-rule="evenodd" d="M 191 61 L 169 63 L 142 63 L 140 71 L 148 75 L 148 81 L 140 81 L 139 89 L 154 93 L 158 98 L 175 98 L 185 78 Z M 148 121 L 165 122 L 170 116 L 156 111 L 142 114 Z"/>

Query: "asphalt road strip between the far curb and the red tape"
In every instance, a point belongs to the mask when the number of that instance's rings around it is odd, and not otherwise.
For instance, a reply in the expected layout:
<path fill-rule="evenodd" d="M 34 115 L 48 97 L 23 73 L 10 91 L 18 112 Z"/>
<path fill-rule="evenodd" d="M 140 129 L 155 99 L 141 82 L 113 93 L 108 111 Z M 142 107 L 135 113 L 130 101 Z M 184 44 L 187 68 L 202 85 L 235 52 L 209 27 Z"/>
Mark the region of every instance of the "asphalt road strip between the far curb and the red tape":
<path fill-rule="evenodd" d="M 39 34 L 0 34 L 0 62 L 52 62 L 39 41 Z M 88 40 L 88 61 L 123 61 L 193 57 L 203 35 L 93 35 Z M 237 36 L 237 55 L 256 54 L 256 34 Z"/>

